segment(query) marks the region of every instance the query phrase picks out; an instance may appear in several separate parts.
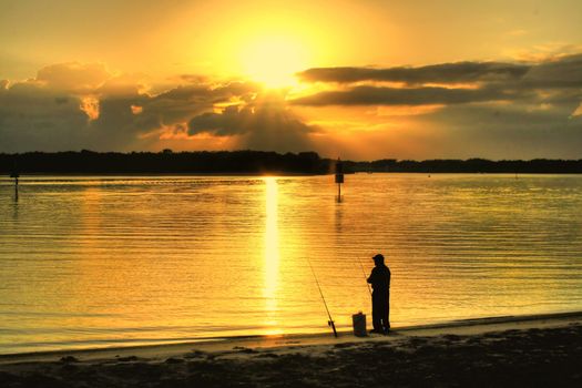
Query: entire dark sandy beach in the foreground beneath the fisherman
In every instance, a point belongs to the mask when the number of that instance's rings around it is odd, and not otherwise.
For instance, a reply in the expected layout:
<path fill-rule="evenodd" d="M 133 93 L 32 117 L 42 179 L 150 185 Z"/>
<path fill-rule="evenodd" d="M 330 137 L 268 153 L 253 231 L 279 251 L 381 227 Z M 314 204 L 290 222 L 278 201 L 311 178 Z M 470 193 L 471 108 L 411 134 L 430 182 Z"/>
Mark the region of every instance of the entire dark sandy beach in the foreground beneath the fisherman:
<path fill-rule="evenodd" d="M 582 312 L 0 356 L 2 387 L 582 386 Z"/>

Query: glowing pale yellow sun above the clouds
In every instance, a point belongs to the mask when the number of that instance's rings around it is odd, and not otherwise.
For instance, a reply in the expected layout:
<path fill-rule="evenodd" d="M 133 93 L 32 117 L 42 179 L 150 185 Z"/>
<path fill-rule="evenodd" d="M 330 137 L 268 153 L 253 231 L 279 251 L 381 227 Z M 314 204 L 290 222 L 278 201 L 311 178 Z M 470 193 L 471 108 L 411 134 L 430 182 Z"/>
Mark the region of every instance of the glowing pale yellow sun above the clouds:
<path fill-rule="evenodd" d="M 251 40 L 241 51 L 243 72 L 267 89 L 293 86 L 294 74 L 308 63 L 306 47 L 285 35 L 264 35 Z"/>

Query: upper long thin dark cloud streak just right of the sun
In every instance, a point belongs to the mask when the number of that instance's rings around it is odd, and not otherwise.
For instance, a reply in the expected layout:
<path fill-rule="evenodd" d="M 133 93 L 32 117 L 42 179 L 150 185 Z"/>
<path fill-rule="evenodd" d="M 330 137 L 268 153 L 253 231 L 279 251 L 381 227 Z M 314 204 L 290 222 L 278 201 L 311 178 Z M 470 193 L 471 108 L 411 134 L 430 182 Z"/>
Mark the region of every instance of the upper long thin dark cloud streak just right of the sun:
<path fill-rule="evenodd" d="M 500 62 L 457 62 L 419 68 L 316 68 L 297 74 L 307 82 L 354 83 L 361 81 L 422 83 L 466 83 L 514 80 L 523 76 L 530 65 Z"/>

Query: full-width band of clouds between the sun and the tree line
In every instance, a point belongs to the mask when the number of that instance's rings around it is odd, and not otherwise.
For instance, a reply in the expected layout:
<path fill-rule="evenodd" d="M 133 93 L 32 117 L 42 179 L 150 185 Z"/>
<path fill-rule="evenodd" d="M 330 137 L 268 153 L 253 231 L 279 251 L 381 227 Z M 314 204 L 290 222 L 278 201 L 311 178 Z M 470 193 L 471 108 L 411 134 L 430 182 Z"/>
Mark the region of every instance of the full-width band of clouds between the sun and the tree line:
<path fill-rule="evenodd" d="M 302 74 L 318 82 L 318 92 L 289 100 L 243 80 L 196 75 L 156 83 L 99 63 L 49 65 L 30 80 L 0 80 L 0 152 L 172 147 L 316 150 L 361 159 L 580 157 L 582 54 L 316 70 Z"/>

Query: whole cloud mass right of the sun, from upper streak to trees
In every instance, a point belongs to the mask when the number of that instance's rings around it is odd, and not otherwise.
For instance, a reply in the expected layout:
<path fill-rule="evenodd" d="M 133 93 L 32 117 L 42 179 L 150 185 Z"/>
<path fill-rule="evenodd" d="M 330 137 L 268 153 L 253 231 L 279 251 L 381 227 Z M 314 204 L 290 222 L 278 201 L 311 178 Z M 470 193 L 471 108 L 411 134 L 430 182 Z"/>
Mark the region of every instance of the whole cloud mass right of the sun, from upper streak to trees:
<path fill-rule="evenodd" d="M 363 127 L 357 133 L 351 131 L 350 139 L 357 137 L 357 142 L 334 136 L 333 126 L 320 124 L 321 131 L 329 134 L 327 144 L 334 137 L 344 139 L 338 153 L 345 155 L 359 152 L 356 157 L 369 159 L 369 152 L 375 152 L 378 156 L 404 159 L 581 156 L 580 53 L 529 63 L 324 68 L 307 70 L 299 76 L 317 82 L 323 91 L 292 100 L 297 109 L 354 112 L 354 127 Z M 374 109 L 367 109 L 370 105 Z M 395 109 L 411 113 L 390 115 Z M 384 114 L 385 110 L 388 114 Z"/>

